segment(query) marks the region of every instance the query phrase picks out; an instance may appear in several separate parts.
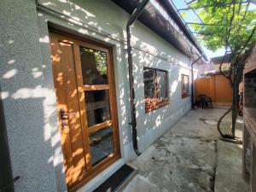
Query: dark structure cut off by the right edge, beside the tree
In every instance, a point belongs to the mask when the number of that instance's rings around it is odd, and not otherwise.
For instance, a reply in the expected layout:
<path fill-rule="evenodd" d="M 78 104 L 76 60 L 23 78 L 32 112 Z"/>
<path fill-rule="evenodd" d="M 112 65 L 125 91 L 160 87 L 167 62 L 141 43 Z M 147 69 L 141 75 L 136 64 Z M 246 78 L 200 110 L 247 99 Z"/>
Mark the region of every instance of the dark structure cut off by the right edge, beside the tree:
<path fill-rule="evenodd" d="M 243 174 L 256 191 L 256 44 L 244 68 Z"/>

